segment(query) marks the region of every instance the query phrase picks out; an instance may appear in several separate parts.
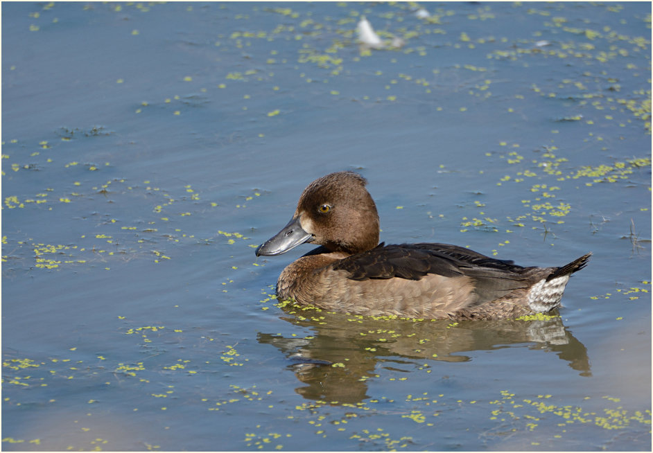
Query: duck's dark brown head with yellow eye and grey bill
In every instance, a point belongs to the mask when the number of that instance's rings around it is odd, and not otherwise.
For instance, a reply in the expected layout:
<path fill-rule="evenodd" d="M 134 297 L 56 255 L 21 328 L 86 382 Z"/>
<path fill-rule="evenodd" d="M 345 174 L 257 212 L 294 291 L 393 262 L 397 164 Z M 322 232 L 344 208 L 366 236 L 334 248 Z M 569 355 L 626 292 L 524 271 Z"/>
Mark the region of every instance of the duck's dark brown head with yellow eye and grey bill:
<path fill-rule="evenodd" d="M 357 254 L 378 245 L 378 213 L 355 172 L 331 173 L 304 189 L 286 227 L 256 249 L 256 256 L 280 255 L 305 242 L 329 251 Z"/>

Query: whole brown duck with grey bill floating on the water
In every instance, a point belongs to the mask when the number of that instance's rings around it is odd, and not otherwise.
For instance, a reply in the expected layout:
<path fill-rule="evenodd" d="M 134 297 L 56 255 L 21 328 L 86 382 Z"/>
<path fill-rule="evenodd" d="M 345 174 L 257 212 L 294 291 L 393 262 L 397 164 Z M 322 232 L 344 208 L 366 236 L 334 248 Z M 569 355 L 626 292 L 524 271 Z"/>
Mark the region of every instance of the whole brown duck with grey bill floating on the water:
<path fill-rule="evenodd" d="M 558 308 L 571 274 L 592 255 L 561 267 L 521 267 L 457 245 L 385 245 L 366 185 L 352 171 L 315 179 L 290 222 L 256 248 L 256 256 L 276 256 L 318 246 L 281 272 L 277 299 L 372 317 L 517 318 Z"/>

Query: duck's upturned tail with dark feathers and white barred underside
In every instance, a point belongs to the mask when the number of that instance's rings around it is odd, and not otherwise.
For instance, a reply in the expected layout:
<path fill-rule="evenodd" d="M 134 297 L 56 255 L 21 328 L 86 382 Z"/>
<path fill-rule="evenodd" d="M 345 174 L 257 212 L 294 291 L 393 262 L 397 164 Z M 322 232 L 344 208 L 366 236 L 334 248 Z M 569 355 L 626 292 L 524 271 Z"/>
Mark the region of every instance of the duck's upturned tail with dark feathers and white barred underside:
<path fill-rule="evenodd" d="M 555 268 L 546 278 L 532 285 L 527 296 L 530 309 L 534 312 L 548 312 L 560 305 L 569 276 L 585 267 L 591 256 L 590 252 L 568 265 Z"/>

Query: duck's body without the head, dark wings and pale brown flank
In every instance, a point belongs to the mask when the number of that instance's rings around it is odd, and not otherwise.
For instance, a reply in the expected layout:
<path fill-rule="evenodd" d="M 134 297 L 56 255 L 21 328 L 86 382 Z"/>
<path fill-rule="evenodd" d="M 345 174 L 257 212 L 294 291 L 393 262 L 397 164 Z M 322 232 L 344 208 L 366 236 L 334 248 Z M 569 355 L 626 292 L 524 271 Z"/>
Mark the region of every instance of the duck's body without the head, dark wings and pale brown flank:
<path fill-rule="evenodd" d="M 559 268 L 521 267 L 436 243 L 381 244 L 345 257 L 316 250 L 284 270 L 278 291 L 300 303 L 369 315 L 519 317 L 559 305 L 569 275 L 588 259 Z"/>

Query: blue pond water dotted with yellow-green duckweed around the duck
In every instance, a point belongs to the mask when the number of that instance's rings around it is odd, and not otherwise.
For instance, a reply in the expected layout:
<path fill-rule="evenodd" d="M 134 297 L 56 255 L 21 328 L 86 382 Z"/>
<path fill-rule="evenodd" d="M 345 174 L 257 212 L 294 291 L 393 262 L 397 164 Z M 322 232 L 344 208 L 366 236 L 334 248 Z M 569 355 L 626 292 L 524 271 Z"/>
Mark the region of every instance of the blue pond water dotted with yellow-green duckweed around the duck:
<path fill-rule="evenodd" d="M 3 3 L 3 450 L 650 450 L 650 3 L 422 6 Z M 386 243 L 594 256 L 551 319 L 279 308 L 338 170 Z"/>

